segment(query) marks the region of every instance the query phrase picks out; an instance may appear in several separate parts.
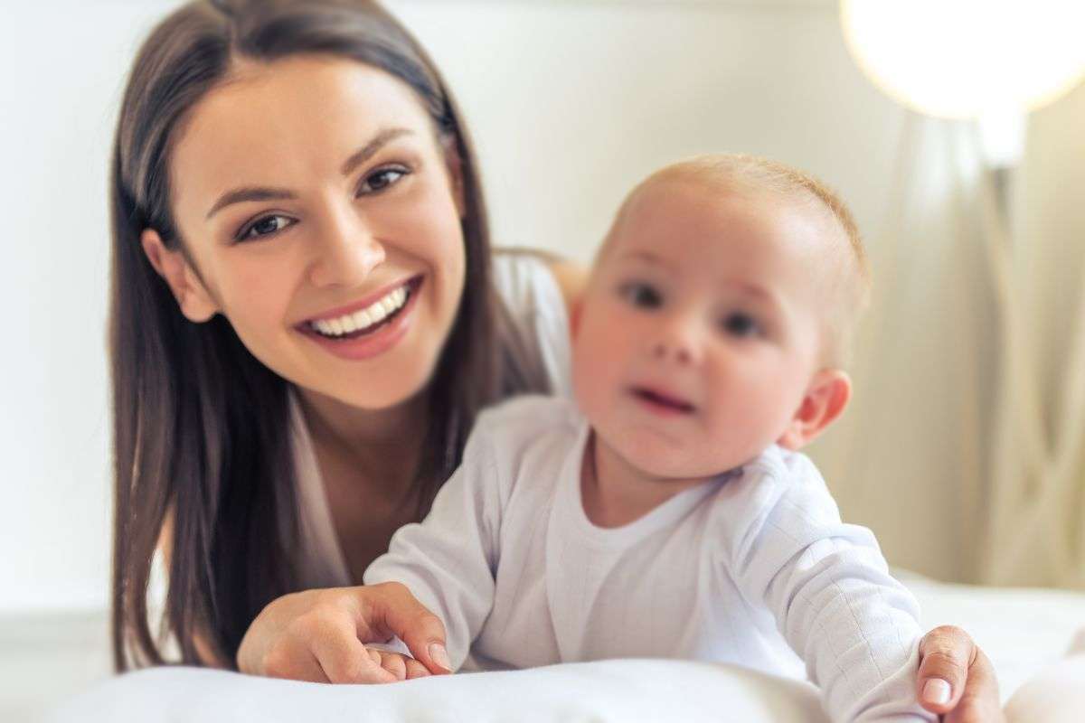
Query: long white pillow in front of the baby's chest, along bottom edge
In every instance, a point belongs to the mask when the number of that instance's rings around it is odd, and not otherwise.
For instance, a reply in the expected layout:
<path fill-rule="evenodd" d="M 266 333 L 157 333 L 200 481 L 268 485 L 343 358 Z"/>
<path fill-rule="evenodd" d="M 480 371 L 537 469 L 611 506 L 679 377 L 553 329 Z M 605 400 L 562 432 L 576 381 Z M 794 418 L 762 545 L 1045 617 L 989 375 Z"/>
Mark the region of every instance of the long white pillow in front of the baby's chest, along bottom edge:
<path fill-rule="evenodd" d="M 194 668 L 112 679 L 47 719 L 67 721 L 735 721 L 827 723 L 808 683 L 680 660 L 602 660 L 386 685 L 320 685 Z"/>

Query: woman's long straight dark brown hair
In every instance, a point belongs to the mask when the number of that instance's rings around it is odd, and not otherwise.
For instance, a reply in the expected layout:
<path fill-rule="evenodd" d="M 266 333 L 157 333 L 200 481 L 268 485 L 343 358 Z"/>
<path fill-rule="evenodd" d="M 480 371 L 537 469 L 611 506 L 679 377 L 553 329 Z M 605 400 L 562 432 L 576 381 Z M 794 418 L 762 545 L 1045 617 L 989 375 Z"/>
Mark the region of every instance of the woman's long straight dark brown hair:
<path fill-rule="evenodd" d="M 406 82 L 446 147 L 459 154 L 467 283 L 427 387 L 432 421 L 416 470 L 421 515 L 459 464 L 477 411 L 545 375 L 495 296 L 476 164 L 460 113 L 418 42 L 365 0 L 206 0 L 166 17 L 144 41 L 125 90 L 111 168 L 110 312 L 115 520 L 113 655 L 118 671 L 161 664 L 164 635 L 199 664 L 196 636 L 233 661 L 271 599 L 298 588 L 297 511 L 288 383 L 257 361 L 229 322 L 186 320 L 151 267 L 140 233 L 184 243 L 169 207 L 169 155 L 186 114 L 237 57 L 335 54 Z M 164 629 L 152 634 L 148 583 L 167 514 Z M 282 525 L 281 520 L 292 520 Z M 206 650 L 205 650 L 206 651 Z"/>

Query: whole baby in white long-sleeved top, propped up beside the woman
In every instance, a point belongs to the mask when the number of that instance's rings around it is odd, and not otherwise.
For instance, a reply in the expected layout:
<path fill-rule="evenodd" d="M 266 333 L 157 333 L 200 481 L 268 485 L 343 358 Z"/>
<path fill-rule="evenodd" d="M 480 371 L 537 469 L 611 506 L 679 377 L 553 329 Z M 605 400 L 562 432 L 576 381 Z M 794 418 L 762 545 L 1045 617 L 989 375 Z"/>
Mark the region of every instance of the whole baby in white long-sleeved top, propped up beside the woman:
<path fill-rule="evenodd" d="M 436 614 L 452 670 L 719 661 L 808 676 L 834 721 L 933 720 L 916 601 L 797 451 L 847 404 L 868 286 L 850 214 L 805 175 L 745 156 L 652 175 L 574 314 L 575 403 L 481 415 L 366 583 Z"/>

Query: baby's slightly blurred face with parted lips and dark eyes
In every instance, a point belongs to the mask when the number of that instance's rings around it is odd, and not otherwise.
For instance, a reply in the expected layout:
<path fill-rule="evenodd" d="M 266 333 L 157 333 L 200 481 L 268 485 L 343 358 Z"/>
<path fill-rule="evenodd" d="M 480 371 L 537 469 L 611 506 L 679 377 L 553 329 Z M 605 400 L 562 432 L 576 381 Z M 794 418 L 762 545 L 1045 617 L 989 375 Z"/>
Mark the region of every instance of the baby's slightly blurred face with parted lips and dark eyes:
<path fill-rule="evenodd" d="M 641 190 L 577 320 L 576 398 L 661 478 L 709 477 L 779 440 L 818 367 L 826 218 L 690 180 Z"/>

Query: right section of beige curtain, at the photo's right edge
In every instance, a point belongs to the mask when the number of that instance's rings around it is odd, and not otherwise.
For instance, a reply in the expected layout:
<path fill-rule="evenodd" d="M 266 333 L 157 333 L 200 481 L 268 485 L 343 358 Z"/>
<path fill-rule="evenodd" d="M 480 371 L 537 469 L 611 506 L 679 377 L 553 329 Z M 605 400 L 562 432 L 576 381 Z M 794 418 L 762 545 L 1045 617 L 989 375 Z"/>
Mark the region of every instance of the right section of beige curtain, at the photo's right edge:
<path fill-rule="evenodd" d="M 980 577 L 1085 589 L 1085 88 L 1034 114 L 1003 237 L 1001 366 Z"/>

